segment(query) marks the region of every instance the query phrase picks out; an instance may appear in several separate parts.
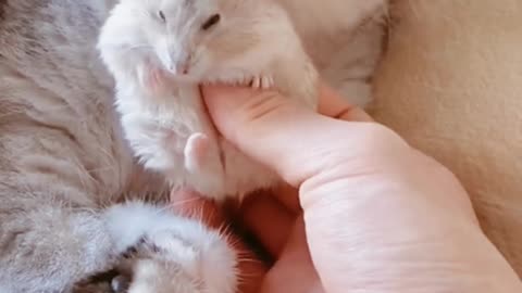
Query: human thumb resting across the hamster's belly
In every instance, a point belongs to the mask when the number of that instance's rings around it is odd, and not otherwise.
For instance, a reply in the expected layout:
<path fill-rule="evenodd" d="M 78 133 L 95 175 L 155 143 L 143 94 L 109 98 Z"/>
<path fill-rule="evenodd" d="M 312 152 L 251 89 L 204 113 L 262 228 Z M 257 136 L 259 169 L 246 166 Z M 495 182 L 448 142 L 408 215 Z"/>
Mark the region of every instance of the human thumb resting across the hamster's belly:
<path fill-rule="evenodd" d="M 206 86 L 202 95 L 221 135 L 293 186 L 324 169 L 340 133 L 355 143 L 360 132 L 276 91 Z"/>

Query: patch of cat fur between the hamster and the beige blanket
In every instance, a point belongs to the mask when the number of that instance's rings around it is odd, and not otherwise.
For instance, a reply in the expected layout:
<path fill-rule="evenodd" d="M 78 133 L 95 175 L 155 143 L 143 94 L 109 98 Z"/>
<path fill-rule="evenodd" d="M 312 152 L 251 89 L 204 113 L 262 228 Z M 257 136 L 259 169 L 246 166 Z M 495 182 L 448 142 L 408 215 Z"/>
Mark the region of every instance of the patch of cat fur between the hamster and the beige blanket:
<path fill-rule="evenodd" d="M 372 101 L 388 0 L 276 0 L 290 15 L 321 77 L 349 102 Z"/>

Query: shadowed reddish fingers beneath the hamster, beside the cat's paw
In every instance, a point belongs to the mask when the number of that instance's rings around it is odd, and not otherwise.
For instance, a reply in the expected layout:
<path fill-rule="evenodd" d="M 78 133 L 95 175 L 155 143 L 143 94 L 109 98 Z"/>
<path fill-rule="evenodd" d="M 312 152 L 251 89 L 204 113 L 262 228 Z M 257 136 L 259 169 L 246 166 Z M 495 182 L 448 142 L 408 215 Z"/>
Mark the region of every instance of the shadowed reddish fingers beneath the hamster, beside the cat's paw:
<path fill-rule="evenodd" d="M 225 208 L 233 213 L 225 213 L 222 206 L 187 190 L 176 190 L 171 198 L 176 214 L 226 231 L 226 239 L 238 252 L 237 272 L 240 282 L 237 292 L 324 292 L 310 259 L 302 220 L 296 221 L 298 209 L 286 209 L 270 194 L 248 198 L 240 209 Z M 265 254 L 256 254 L 243 241 L 240 232 L 235 233 L 237 230 L 231 227 L 237 227 L 239 222 L 246 224 L 240 230 L 248 229 L 268 249 L 269 258 L 275 258 L 275 262 L 262 257 Z"/>

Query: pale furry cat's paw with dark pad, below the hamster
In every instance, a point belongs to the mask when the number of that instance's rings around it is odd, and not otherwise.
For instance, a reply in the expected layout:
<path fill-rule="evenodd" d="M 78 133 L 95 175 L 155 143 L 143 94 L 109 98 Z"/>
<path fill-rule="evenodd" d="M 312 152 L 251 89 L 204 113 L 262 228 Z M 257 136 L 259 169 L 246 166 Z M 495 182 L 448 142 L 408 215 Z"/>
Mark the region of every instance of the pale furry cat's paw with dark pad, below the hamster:
<path fill-rule="evenodd" d="M 214 237 L 207 234 L 204 243 L 199 243 L 176 228 L 144 235 L 122 255 L 122 275 L 112 279 L 112 290 L 115 293 L 199 292 L 198 289 L 235 292 L 234 254 L 226 242 Z"/>

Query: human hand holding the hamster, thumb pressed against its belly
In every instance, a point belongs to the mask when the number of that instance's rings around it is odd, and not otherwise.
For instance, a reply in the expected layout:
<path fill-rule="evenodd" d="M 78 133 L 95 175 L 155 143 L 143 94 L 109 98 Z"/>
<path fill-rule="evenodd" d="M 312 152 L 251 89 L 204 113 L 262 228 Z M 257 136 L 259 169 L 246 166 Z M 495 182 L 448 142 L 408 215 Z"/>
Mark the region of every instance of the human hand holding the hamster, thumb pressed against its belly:
<path fill-rule="evenodd" d="M 243 212 L 278 259 L 262 292 L 303 292 L 291 289 L 315 272 L 328 293 L 521 292 L 451 173 L 335 93 L 324 89 L 323 115 L 270 91 L 203 95 L 226 139 L 298 189 Z"/>

